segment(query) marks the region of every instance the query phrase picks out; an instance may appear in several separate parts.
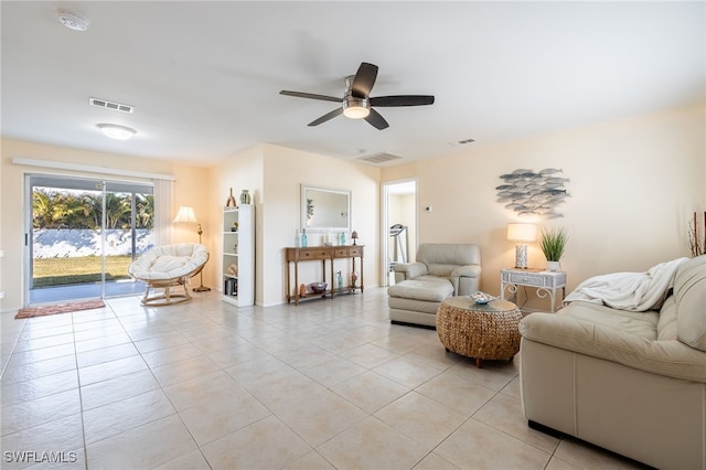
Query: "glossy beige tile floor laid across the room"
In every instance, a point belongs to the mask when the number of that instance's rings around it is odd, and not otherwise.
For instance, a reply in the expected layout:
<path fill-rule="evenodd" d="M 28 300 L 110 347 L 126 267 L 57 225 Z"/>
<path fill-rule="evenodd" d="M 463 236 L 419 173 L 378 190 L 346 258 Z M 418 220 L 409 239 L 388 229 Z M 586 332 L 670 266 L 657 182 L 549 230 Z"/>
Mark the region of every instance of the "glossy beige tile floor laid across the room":
<path fill-rule="evenodd" d="M 384 289 L 240 309 L 195 296 L 1 314 L 0 466 L 635 468 L 528 429 L 516 362 L 479 370 L 435 331 L 391 325 Z"/>

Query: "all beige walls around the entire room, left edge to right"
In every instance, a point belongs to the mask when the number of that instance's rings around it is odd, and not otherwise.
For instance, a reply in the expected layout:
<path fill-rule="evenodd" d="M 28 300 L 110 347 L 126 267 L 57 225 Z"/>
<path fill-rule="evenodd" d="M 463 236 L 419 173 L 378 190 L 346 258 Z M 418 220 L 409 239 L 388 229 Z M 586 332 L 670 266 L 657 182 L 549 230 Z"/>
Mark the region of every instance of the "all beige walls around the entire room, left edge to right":
<path fill-rule="evenodd" d="M 165 160 L 132 158 L 13 140 L 1 142 L 0 291 L 3 310 L 22 306 L 22 201 L 24 172 L 12 163 L 24 157 L 89 164 L 175 178 L 172 213 L 193 205 L 212 253 L 204 284 L 221 286 L 221 211 L 229 188 L 237 197 L 248 189 L 256 205 L 256 301 L 285 299 L 282 248 L 295 244 L 300 223 L 300 184 L 350 189 L 353 228 L 366 245 L 365 285 L 379 284 L 379 182 L 417 179 L 418 235 L 422 242 L 473 242 L 481 246 L 481 288 L 499 293 L 499 270 L 514 264 L 514 245 L 505 227 L 517 221 L 495 202 L 500 174 L 518 168 L 561 168 L 571 194 L 560 205 L 565 217 L 542 222 L 563 226 L 569 245 L 561 260 L 574 288 L 589 276 L 644 270 L 688 253 L 687 221 L 706 210 L 706 107 L 704 105 L 538 136 L 503 145 L 473 143 L 458 154 L 379 169 L 324 156 L 261 145 L 212 169 Z M 54 172 L 54 171 L 53 171 Z M 67 173 L 61 171 L 60 173 Z M 96 177 L 96 174 L 90 174 Z M 108 178 L 110 178 L 108 175 Z M 421 209 L 432 205 L 434 211 Z M 173 216 L 173 215 L 172 215 Z M 173 241 L 195 241 L 189 226 L 173 227 Z M 313 236 L 310 244 L 318 241 Z M 530 261 L 544 267 L 531 244 Z M 347 266 L 336 267 L 347 270 Z M 320 277 L 315 266 L 302 269 L 307 281 Z M 531 306 L 545 307 L 531 299 Z"/>

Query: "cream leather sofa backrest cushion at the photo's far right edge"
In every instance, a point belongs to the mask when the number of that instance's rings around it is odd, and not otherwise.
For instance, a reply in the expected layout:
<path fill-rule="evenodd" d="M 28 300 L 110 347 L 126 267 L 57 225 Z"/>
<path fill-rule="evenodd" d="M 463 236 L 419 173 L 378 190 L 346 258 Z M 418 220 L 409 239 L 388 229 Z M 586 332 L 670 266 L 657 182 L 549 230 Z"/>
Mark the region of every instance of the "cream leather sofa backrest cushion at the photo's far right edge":
<path fill-rule="evenodd" d="M 699 351 L 706 351 L 706 255 L 680 266 L 674 279 L 676 337 Z"/>

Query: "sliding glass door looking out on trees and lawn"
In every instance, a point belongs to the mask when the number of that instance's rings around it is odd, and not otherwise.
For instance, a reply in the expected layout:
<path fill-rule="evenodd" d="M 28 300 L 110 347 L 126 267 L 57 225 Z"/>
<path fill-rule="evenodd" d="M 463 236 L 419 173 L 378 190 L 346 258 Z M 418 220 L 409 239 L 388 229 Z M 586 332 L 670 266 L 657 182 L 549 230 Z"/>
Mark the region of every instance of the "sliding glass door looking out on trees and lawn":
<path fill-rule="evenodd" d="M 25 183 L 25 303 L 145 291 L 127 267 L 153 246 L 151 184 L 49 174 Z"/>

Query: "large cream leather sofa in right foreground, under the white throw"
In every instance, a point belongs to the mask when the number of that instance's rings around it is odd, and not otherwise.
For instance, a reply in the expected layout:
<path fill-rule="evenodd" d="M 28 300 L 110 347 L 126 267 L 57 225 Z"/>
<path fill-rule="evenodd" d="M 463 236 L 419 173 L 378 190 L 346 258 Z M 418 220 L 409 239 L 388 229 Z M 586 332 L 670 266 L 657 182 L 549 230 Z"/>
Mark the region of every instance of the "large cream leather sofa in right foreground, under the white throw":
<path fill-rule="evenodd" d="M 525 317 L 520 332 L 531 427 L 660 469 L 706 469 L 706 255 L 678 266 L 659 311 L 575 301 Z"/>

